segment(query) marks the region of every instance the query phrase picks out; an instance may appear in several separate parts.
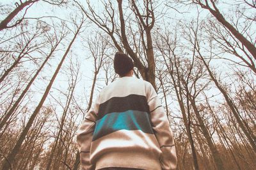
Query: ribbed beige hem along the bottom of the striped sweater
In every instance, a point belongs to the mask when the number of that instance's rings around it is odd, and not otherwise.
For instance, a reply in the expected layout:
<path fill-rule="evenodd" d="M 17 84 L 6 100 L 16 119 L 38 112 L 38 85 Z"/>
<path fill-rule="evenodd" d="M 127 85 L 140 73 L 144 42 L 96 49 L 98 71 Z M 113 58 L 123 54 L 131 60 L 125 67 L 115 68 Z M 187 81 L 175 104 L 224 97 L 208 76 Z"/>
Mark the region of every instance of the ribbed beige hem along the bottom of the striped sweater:
<path fill-rule="evenodd" d="M 161 164 L 157 157 L 145 153 L 121 152 L 106 153 L 96 162 L 96 170 L 104 167 L 130 167 L 147 170 L 160 170 Z"/>

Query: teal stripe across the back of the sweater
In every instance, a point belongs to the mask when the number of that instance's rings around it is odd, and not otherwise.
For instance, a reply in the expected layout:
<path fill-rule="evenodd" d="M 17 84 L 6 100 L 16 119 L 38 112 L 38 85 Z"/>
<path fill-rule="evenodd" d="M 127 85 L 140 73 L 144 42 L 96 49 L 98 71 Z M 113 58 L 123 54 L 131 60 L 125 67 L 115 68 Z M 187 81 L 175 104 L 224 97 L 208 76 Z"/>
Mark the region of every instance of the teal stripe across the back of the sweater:
<path fill-rule="evenodd" d="M 141 130 L 147 134 L 154 134 L 147 112 L 129 110 L 112 112 L 97 120 L 92 140 L 95 141 L 117 130 Z"/>

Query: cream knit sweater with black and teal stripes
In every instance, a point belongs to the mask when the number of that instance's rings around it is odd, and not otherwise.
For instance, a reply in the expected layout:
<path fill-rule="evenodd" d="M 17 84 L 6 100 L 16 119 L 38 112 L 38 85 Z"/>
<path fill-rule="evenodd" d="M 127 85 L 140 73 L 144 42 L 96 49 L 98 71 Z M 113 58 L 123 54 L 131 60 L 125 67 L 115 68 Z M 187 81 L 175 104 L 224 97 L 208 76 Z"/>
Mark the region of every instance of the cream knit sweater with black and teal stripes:
<path fill-rule="evenodd" d="M 175 169 L 168 118 L 153 86 L 121 77 L 100 91 L 77 130 L 83 169 Z"/>

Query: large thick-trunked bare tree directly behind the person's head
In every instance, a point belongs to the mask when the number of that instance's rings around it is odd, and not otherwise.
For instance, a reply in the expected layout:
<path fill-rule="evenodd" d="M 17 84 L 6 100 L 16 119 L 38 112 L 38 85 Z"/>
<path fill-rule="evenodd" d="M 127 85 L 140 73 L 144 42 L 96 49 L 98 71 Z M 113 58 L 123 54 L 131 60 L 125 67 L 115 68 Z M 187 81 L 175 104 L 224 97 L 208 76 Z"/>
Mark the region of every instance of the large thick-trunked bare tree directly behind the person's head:
<path fill-rule="evenodd" d="M 155 82 L 156 64 L 154 59 L 154 50 L 151 35 L 152 28 L 154 27 L 155 23 L 155 8 L 153 6 L 153 1 L 144 1 L 143 7 L 141 7 L 141 9 L 138 7 L 135 1 L 129 1 L 129 8 L 132 9 L 132 12 L 136 17 L 136 24 L 138 25 L 138 31 L 136 33 L 132 31 L 131 24 L 130 27 L 128 27 L 131 31 L 131 37 L 127 36 L 126 24 L 129 24 L 129 22 L 125 23 L 125 16 L 123 13 L 124 7 L 122 6 L 122 1 L 117 1 L 120 25 L 118 25 L 118 22 L 116 22 L 115 20 L 114 16 L 116 11 L 114 10 L 114 4 L 111 1 L 108 1 L 108 3 L 103 3 L 106 10 L 104 12 L 106 13 L 106 15 L 104 16 L 99 16 L 99 14 L 95 12 L 89 1 L 86 1 L 88 4 L 88 10 L 86 10 L 77 1 L 75 2 L 77 5 L 80 6 L 81 10 L 83 10 L 84 14 L 86 15 L 86 17 L 88 17 L 88 19 L 92 20 L 93 23 L 95 23 L 100 29 L 105 31 L 111 37 L 111 40 L 113 41 L 117 50 L 124 51 L 125 49 L 125 51 L 133 59 L 134 66 L 138 68 L 141 77 L 143 77 L 143 79 L 145 79 L 146 81 L 151 82 L 154 88 L 157 89 Z M 107 22 L 105 22 L 104 20 L 106 20 Z M 138 38 L 138 36 L 140 38 Z M 118 40 L 116 40 L 117 38 L 119 40 L 122 40 L 122 43 L 119 43 Z M 132 42 L 129 41 L 130 39 L 132 40 Z M 143 50 L 145 50 L 145 61 L 147 63 L 144 63 L 141 59 L 141 56 L 139 56 L 140 47 L 137 45 L 137 41 L 140 41 L 140 43 L 142 44 L 141 47 L 143 48 Z M 131 43 L 133 43 L 133 46 L 131 46 Z"/>

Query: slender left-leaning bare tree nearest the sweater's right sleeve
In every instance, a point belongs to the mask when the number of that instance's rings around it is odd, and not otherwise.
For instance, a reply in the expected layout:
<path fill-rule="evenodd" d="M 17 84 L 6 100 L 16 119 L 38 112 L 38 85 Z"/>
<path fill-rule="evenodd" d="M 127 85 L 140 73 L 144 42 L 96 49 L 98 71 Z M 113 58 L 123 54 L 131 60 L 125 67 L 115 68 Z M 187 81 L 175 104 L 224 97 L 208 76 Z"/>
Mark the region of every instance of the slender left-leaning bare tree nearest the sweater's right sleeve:
<path fill-rule="evenodd" d="M 172 34 L 168 31 L 166 31 L 165 34 L 157 36 L 158 41 L 156 41 L 157 49 L 161 52 L 161 55 L 163 56 L 163 62 L 166 65 L 166 68 L 168 70 L 168 73 L 170 75 L 170 81 L 172 81 L 172 86 L 175 90 L 175 95 L 177 97 L 180 112 L 182 113 L 182 119 L 184 121 L 184 125 L 186 128 L 186 134 L 188 135 L 189 143 L 191 145 L 191 152 L 193 155 L 193 164 L 195 169 L 199 169 L 198 166 L 198 158 L 196 155 L 196 148 L 195 148 L 195 142 L 192 136 L 191 132 L 191 115 L 189 108 L 186 109 L 186 104 L 188 104 L 188 100 L 186 102 L 186 98 L 184 97 L 183 93 L 183 82 L 181 77 L 183 76 L 180 72 L 180 69 L 182 68 L 181 61 L 179 56 L 176 54 L 177 49 L 177 42 L 176 38 L 177 36 L 172 36 Z M 174 37 L 172 39 L 172 37 Z M 187 114 L 188 112 L 188 114 Z"/>

